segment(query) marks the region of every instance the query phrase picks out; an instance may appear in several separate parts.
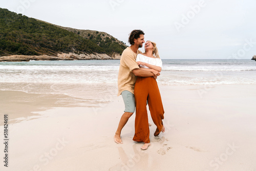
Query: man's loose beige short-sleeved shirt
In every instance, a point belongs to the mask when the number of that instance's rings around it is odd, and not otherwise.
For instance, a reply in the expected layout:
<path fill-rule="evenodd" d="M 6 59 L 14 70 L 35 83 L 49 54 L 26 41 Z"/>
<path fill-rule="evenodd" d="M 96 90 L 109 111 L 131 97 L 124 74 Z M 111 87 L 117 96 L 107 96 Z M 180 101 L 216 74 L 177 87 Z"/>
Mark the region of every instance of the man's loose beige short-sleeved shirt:
<path fill-rule="evenodd" d="M 137 54 L 141 51 L 137 50 Z M 121 56 L 120 66 L 118 72 L 118 96 L 122 91 L 127 90 L 134 94 L 134 84 L 136 82 L 136 76 L 133 74 L 134 69 L 139 69 L 136 62 L 137 54 L 133 52 L 130 47 L 127 47 Z"/>

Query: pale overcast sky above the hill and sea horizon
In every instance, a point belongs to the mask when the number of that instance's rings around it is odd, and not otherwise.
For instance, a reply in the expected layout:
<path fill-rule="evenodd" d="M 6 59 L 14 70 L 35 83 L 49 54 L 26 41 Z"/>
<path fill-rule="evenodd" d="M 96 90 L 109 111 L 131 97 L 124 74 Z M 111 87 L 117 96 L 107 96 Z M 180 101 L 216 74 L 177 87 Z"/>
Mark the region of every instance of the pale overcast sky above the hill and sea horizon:
<path fill-rule="evenodd" d="M 163 59 L 256 55 L 255 0 L 0 1 L 1 8 L 64 27 L 103 31 L 126 45 L 129 33 L 141 29 Z"/>

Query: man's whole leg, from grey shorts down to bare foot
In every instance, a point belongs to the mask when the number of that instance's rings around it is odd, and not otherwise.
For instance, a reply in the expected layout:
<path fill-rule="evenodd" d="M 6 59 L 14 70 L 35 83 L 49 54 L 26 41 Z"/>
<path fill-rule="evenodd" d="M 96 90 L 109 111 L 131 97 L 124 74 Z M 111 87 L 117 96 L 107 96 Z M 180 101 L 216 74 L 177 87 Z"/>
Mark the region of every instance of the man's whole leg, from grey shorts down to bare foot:
<path fill-rule="evenodd" d="M 122 117 L 119 121 L 116 134 L 114 136 L 114 141 L 118 144 L 122 143 L 121 131 L 123 129 L 123 126 L 127 123 L 129 118 L 133 115 L 133 113 L 135 111 L 134 94 L 125 90 L 121 93 L 121 95 L 123 97 L 123 102 L 124 102 L 124 105 L 125 105 L 125 109 L 124 109 L 124 113 L 123 113 L 123 115 L 122 115 Z"/>

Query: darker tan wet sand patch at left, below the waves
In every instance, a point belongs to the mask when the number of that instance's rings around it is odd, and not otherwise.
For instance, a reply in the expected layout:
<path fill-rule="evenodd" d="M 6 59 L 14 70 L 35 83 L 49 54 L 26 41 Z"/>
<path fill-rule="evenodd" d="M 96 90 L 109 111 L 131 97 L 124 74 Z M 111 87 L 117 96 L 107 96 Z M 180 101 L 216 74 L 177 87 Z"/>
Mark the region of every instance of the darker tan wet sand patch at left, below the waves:
<path fill-rule="evenodd" d="M 26 93 L 17 90 L 0 90 L 1 115 L 11 115 L 9 123 L 18 123 L 31 117 L 39 117 L 37 112 L 70 106 L 82 106 L 82 99 L 63 94 Z M 15 108 L 13 108 L 15 106 Z M 3 125 L 0 118 L 0 125 Z"/>

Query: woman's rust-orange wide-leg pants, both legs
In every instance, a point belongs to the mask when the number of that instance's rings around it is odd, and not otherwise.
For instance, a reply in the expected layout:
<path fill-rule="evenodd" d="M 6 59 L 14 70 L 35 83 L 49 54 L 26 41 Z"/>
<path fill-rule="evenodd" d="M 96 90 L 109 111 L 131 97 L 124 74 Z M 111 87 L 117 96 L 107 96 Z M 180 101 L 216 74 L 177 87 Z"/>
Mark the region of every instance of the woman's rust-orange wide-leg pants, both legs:
<path fill-rule="evenodd" d="M 134 141 L 150 143 L 150 128 L 146 110 L 146 100 L 153 122 L 157 126 L 155 136 L 163 129 L 164 110 L 157 81 L 154 77 L 137 77 L 134 97 L 136 102 Z"/>

